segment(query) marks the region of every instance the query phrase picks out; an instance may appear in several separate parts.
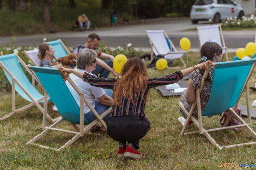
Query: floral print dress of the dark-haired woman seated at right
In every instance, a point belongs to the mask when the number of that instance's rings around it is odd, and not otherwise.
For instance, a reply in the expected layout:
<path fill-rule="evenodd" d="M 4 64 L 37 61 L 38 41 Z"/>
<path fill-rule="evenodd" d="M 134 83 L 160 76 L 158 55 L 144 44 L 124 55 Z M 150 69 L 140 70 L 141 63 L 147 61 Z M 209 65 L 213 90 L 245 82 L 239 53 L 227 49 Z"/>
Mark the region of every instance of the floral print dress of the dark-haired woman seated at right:
<path fill-rule="evenodd" d="M 192 85 L 195 89 L 195 93 L 196 93 L 196 90 L 199 89 L 199 87 L 200 87 L 202 78 L 203 78 L 203 75 L 199 72 L 199 70 L 195 70 L 190 74 L 190 79 L 192 79 Z M 200 92 L 201 110 L 202 111 L 204 110 L 204 108 L 209 100 L 209 97 L 211 94 L 211 85 L 212 85 L 213 78 L 214 78 L 214 68 L 210 68 L 208 78 L 205 80 L 203 89 Z M 192 104 L 187 103 L 185 96 L 186 96 L 186 90 L 184 90 L 184 92 L 182 93 L 180 102 L 185 106 L 186 110 L 189 111 Z M 180 109 L 180 111 L 181 111 L 181 114 L 184 116 L 184 118 L 187 118 L 187 114 L 182 109 Z M 194 108 L 192 115 L 198 119 L 197 105 Z"/>

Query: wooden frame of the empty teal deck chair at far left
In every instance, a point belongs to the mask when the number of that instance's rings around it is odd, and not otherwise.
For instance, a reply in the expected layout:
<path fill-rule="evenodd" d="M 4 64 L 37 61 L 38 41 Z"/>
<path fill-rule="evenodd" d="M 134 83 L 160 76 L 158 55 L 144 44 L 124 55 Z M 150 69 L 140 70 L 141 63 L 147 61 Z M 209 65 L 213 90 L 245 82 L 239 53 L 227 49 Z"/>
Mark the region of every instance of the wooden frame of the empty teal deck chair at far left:
<path fill-rule="evenodd" d="M 20 64 L 25 67 L 25 69 L 32 75 L 32 77 L 36 80 L 37 78 L 34 77 L 33 73 L 28 69 L 28 67 L 26 66 L 25 62 L 20 58 L 19 55 L 16 54 L 16 57 L 18 59 L 18 61 L 20 62 Z M 28 110 L 30 108 L 32 108 L 33 106 L 36 106 L 36 108 L 38 108 L 42 114 L 44 114 L 44 109 L 42 109 L 41 105 L 39 104 L 39 102 L 41 102 L 42 100 L 44 100 L 44 97 L 39 99 L 39 100 L 35 100 L 29 93 L 28 91 L 21 85 L 21 83 L 14 77 L 13 74 L 11 74 L 11 72 L 8 70 L 7 67 L 4 66 L 3 62 L 0 61 L 0 66 L 3 68 L 3 70 L 5 72 L 7 72 L 7 74 L 11 77 L 12 79 L 12 83 L 11 83 L 11 112 L 8 115 L 5 115 L 3 117 L 0 118 L 0 121 L 3 121 L 4 119 L 7 119 L 10 116 L 13 116 L 15 114 L 20 114 L 21 112 Z M 25 106 L 23 106 L 22 108 L 16 109 L 15 106 L 15 83 L 22 89 L 23 92 L 26 93 L 26 95 L 32 100 L 32 103 L 29 103 Z M 54 122 L 54 119 L 52 119 L 46 112 L 46 118 L 49 119 L 50 121 Z"/>

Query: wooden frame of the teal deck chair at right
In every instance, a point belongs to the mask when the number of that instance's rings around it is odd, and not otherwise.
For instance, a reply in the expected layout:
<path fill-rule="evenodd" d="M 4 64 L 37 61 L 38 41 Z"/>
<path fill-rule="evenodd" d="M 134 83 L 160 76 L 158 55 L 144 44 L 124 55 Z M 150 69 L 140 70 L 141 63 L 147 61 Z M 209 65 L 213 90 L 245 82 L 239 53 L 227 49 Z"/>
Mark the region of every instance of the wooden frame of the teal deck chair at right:
<path fill-rule="evenodd" d="M 231 129 L 231 128 L 238 128 L 238 127 L 246 127 L 247 130 L 249 130 L 249 132 L 252 134 L 253 137 L 256 138 L 256 133 L 252 130 L 252 128 L 250 126 L 252 126 L 252 117 L 251 117 L 251 109 L 250 109 L 250 106 L 249 106 L 249 87 L 248 87 L 248 80 L 249 78 L 251 77 L 251 74 L 253 72 L 253 69 L 255 67 L 255 62 L 254 64 L 252 65 L 251 67 L 251 70 L 249 71 L 248 73 L 248 76 L 246 78 L 246 81 L 245 81 L 245 84 L 243 84 L 243 87 L 242 87 L 242 90 L 241 90 L 241 93 L 240 93 L 240 96 L 239 98 L 237 99 L 237 102 L 236 104 L 233 106 L 233 108 L 229 108 L 229 111 L 230 111 L 230 114 L 227 118 L 227 120 L 225 121 L 223 127 L 221 128 L 214 128 L 214 129 L 204 129 L 203 128 L 203 122 L 202 122 L 202 110 L 201 110 L 201 105 L 200 105 L 200 92 L 202 91 L 203 89 L 203 85 L 204 85 L 204 81 L 210 71 L 210 68 L 212 66 L 216 66 L 216 64 L 213 64 L 213 65 L 210 65 L 208 67 L 208 69 L 205 71 L 204 75 L 203 75 L 203 78 L 202 78 L 202 81 L 200 83 L 200 88 L 196 91 L 196 100 L 194 101 L 194 103 L 191 105 L 191 109 L 188 111 L 185 109 L 185 106 L 179 102 L 179 106 L 180 108 L 187 114 L 187 119 L 186 119 L 186 122 L 180 132 L 180 135 L 188 135 L 188 134 L 194 134 L 194 133 L 200 133 L 200 134 L 204 134 L 208 140 L 217 148 L 219 149 L 223 149 L 223 148 L 231 148 L 231 147 L 235 147 L 235 146 L 243 146 L 243 145 L 246 145 L 246 144 L 256 144 L 256 142 L 248 142 L 248 143 L 240 143 L 240 144 L 232 144 L 232 145 L 228 145 L 228 146 L 220 146 L 215 140 L 214 138 L 211 137 L 211 135 L 208 133 L 210 131 L 217 131 L 217 130 L 224 130 L 224 129 Z M 246 90 L 246 103 L 247 103 L 247 113 L 248 113 L 248 122 L 249 123 L 246 123 L 245 121 L 243 121 L 243 119 L 236 114 L 236 112 L 234 111 L 234 108 L 236 107 L 236 105 L 238 104 L 239 102 L 239 99 L 241 98 L 242 96 L 242 92 L 243 90 Z M 196 107 L 197 105 L 197 109 L 198 109 L 198 120 L 192 116 L 192 113 L 193 113 L 193 110 L 194 108 Z M 233 125 L 233 126 L 229 126 L 227 127 L 227 124 L 231 118 L 231 116 L 234 116 L 237 120 L 239 120 L 239 122 L 241 122 L 240 125 Z M 188 122 L 192 121 L 198 128 L 199 128 L 199 131 L 193 131 L 193 132 L 189 132 L 189 133 L 185 133 L 185 130 L 187 129 L 188 127 Z"/>

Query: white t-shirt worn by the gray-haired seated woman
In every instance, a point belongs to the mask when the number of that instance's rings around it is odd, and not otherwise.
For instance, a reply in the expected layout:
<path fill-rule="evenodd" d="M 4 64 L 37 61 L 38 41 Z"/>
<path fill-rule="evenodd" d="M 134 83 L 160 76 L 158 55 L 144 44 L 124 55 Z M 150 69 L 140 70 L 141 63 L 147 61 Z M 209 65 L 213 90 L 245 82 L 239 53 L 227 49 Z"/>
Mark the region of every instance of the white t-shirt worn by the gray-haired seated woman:
<path fill-rule="evenodd" d="M 87 72 L 87 71 L 84 71 L 84 70 L 81 70 L 78 68 L 75 68 L 75 70 L 78 70 L 81 72 Z M 89 74 L 91 74 L 91 73 L 89 73 Z M 94 74 L 92 74 L 92 75 L 94 75 Z M 84 92 L 84 97 L 87 98 L 88 102 L 90 104 L 92 104 L 93 107 L 95 107 L 96 98 L 99 98 L 105 94 L 105 91 L 102 88 L 91 86 L 89 83 L 87 83 L 86 81 L 83 81 L 83 79 L 81 79 L 80 77 L 77 77 L 73 73 L 69 74 L 69 77 L 71 78 L 72 81 L 74 81 L 74 83 L 76 84 L 78 89 L 81 92 Z M 78 95 L 78 93 L 76 92 L 74 87 L 71 86 L 71 84 L 69 83 L 68 80 L 66 80 L 66 86 L 68 86 L 72 96 L 76 100 L 77 105 L 80 106 L 80 96 Z M 90 109 L 88 108 L 87 104 L 84 103 L 84 108 L 83 108 L 84 114 L 87 114 L 89 111 L 90 111 Z"/>

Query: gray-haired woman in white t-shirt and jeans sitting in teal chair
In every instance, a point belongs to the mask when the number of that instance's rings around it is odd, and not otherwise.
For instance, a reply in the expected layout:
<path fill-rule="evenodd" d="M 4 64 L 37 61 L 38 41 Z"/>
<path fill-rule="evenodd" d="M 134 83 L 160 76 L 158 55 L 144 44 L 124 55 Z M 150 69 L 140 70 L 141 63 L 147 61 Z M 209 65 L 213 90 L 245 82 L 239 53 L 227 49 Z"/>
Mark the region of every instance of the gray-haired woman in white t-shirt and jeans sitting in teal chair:
<path fill-rule="evenodd" d="M 92 74 L 96 66 L 96 56 L 97 56 L 97 53 L 93 49 L 84 49 L 78 55 L 77 68 L 75 68 L 75 70 Z M 87 98 L 89 103 L 94 107 L 94 109 L 99 113 L 99 115 L 103 114 L 103 112 L 105 112 L 109 108 L 109 106 L 113 105 L 113 99 L 111 98 L 112 90 L 91 86 L 89 83 L 87 83 L 86 81 L 83 81 L 83 79 L 77 77 L 75 74 L 72 74 L 72 73 L 69 74 L 69 77 L 77 85 L 78 89 L 81 92 L 84 92 L 84 96 Z M 66 85 L 68 86 L 72 96 L 76 100 L 76 103 L 80 105 L 80 96 L 77 94 L 75 89 L 71 86 L 69 81 L 66 81 Z M 85 103 L 84 103 L 84 117 L 86 117 L 86 119 L 89 122 L 93 122 L 96 119 L 93 112 L 88 108 L 88 106 Z M 106 122 L 108 117 L 109 115 L 105 116 L 103 120 Z M 98 124 L 92 129 L 106 131 L 105 128 L 103 127 L 100 128 Z"/>

